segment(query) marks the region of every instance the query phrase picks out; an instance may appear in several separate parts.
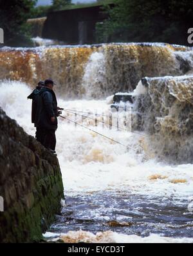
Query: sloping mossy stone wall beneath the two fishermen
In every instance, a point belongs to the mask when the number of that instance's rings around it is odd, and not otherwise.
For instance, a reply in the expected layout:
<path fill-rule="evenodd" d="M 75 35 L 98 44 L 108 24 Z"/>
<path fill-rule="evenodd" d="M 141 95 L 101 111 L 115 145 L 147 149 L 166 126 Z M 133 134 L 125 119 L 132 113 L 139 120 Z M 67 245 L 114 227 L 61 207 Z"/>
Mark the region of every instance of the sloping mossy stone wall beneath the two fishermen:
<path fill-rule="evenodd" d="M 57 156 L 0 108 L 0 242 L 39 241 L 64 197 Z"/>

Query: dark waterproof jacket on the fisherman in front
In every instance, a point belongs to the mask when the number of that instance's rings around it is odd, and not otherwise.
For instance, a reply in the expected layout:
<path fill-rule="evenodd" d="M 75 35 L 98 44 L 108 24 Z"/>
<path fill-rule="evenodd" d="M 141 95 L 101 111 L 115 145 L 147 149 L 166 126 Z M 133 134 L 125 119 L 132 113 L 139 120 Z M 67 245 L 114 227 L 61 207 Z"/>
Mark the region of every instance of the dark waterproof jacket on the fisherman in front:
<path fill-rule="evenodd" d="M 37 127 L 56 130 L 58 127 L 57 116 L 59 116 L 57 109 L 57 98 L 55 92 L 46 87 L 37 94 L 37 108 L 35 120 L 37 120 Z M 55 117 L 55 122 L 51 122 L 51 118 Z"/>

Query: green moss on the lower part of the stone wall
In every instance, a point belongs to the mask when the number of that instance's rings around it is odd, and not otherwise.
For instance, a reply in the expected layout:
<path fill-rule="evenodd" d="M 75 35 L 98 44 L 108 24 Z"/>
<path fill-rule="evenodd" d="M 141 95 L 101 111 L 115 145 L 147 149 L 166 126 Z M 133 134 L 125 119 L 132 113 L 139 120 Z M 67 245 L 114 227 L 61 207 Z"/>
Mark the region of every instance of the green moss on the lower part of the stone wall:
<path fill-rule="evenodd" d="M 51 178 L 51 177 L 49 177 Z M 49 180 L 49 179 L 46 179 Z M 44 186 L 44 182 L 42 182 Z M 54 193 L 50 186 L 46 197 L 42 196 L 37 205 L 32 208 L 26 207 L 26 202 L 15 202 L 12 208 L 5 212 L 6 236 L 5 233 L 2 242 L 38 242 L 42 239 L 42 233 L 49 228 L 51 222 L 55 220 L 55 214 L 60 213 L 60 199 L 63 186 L 55 184 L 59 191 Z M 62 192 L 63 193 L 63 192 Z M 30 193 L 28 200 L 34 202 L 33 193 Z M 13 219 L 17 225 L 13 224 Z M 1 219 L 0 219 L 1 221 Z M 2 229 L 1 229 L 2 231 Z M 9 232 L 10 231 L 10 232 Z"/>

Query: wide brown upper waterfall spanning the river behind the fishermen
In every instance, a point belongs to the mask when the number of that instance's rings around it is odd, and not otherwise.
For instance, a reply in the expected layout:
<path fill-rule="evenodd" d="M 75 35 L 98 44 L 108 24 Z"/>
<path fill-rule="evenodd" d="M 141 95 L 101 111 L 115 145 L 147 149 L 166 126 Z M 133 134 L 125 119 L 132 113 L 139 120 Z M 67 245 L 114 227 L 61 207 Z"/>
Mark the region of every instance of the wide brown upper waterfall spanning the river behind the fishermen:
<path fill-rule="evenodd" d="M 190 48 L 156 43 L 1 48 L 0 58 L 1 80 L 34 87 L 51 77 L 64 98 L 105 98 L 133 91 L 145 76 L 181 76 L 192 69 Z"/>

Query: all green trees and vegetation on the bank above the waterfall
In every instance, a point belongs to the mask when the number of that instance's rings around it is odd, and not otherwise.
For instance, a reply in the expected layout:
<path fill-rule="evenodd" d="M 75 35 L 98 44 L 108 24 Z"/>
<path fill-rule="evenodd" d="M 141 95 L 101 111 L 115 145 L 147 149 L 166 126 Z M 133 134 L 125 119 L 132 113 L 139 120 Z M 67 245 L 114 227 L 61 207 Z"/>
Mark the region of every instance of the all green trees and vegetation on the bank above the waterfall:
<path fill-rule="evenodd" d="M 96 43 L 165 42 L 187 45 L 192 27 L 193 1 L 189 0 L 98 0 L 73 4 L 71 0 L 52 0 L 51 6 L 36 6 L 37 0 L 1 0 L 0 27 L 5 45 L 31 46 L 29 18 L 44 17 L 48 12 L 104 5 L 109 18 L 96 24 Z M 115 6 L 109 6 L 115 3 Z"/>

